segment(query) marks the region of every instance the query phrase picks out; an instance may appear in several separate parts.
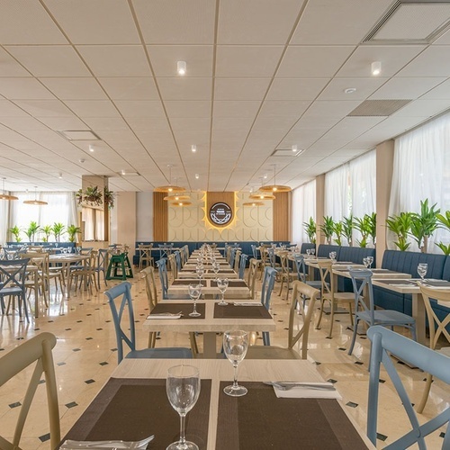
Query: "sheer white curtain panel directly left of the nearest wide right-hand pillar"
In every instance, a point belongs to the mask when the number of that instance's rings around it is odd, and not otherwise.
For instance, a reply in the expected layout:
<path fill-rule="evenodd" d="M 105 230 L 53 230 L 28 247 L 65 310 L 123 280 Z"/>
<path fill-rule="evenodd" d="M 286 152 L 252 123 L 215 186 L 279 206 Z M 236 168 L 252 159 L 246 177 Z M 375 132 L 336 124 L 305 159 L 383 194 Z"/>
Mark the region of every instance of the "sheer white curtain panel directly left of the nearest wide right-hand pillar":
<path fill-rule="evenodd" d="M 350 161 L 350 191 L 354 217 L 364 217 L 376 209 L 376 154 L 375 150 Z M 354 229 L 353 241 L 361 239 Z"/>

